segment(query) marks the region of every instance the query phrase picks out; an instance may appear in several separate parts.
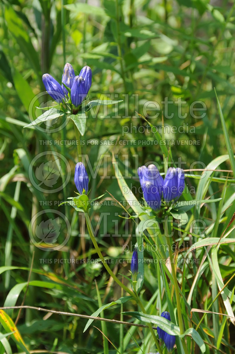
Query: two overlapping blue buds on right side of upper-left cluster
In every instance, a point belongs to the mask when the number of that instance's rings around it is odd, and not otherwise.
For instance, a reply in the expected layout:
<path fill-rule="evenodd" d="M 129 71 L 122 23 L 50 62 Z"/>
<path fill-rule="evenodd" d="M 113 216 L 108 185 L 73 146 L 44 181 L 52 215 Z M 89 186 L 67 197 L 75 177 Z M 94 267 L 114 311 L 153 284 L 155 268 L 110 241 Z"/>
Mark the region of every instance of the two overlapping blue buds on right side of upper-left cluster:
<path fill-rule="evenodd" d="M 91 68 L 86 66 L 82 68 L 80 74 L 75 76 L 71 87 L 71 101 L 78 107 L 86 97 L 91 87 Z"/>

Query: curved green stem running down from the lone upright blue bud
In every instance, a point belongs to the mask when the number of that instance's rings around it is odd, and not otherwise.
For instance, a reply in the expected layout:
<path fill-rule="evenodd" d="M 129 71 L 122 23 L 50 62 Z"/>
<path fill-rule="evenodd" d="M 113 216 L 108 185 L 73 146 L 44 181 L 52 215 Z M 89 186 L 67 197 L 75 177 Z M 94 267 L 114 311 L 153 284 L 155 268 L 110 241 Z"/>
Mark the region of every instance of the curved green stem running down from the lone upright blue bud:
<path fill-rule="evenodd" d="M 144 308 L 143 304 L 141 303 L 140 299 L 138 298 L 138 296 L 136 296 L 136 294 L 132 290 L 128 289 L 128 287 L 126 285 L 122 284 L 122 282 L 116 277 L 116 275 L 109 268 L 108 264 L 105 262 L 105 259 L 104 259 L 103 255 L 101 253 L 101 250 L 99 249 L 99 246 L 98 246 L 98 244 L 96 242 L 96 238 L 93 235 L 92 227 L 91 227 L 91 220 L 90 220 L 90 217 L 89 217 L 88 213 L 85 213 L 85 218 L 86 218 L 86 225 L 87 225 L 88 233 L 89 233 L 89 235 L 91 237 L 91 241 L 92 241 L 92 243 L 94 245 L 94 248 L 96 249 L 96 252 L 97 252 L 99 258 L 102 260 L 102 263 L 103 263 L 105 269 L 107 270 L 109 275 L 111 275 L 111 277 L 116 281 L 116 283 L 118 285 L 120 285 L 123 290 L 128 292 L 128 294 L 130 294 L 136 300 L 136 303 L 139 304 L 142 312 L 146 313 L 145 308 Z M 150 323 L 148 323 L 147 325 L 149 327 L 151 335 L 153 336 L 153 339 L 154 339 L 154 342 L 156 344 L 157 350 L 159 351 L 160 354 L 162 354 L 162 350 L 161 350 L 161 347 L 160 347 L 159 342 L 157 340 L 157 337 L 155 336 L 153 327 L 151 326 Z"/>

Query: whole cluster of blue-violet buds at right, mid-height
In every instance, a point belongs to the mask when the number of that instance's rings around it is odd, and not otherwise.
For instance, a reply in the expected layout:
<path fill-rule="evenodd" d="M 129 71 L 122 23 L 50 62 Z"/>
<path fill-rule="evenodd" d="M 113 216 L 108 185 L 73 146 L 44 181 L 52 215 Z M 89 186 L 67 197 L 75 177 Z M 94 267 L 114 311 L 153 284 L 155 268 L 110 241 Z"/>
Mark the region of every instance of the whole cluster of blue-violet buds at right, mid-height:
<path fill-rule="evenodd" d="M 162 196 L 165 201 L 176 200 L 184 190 L 184 171 L 170 167 L 165 179 L 154 164 L 138 168 L 139 180 L 147 205 L 153 210 L 161 206 Z"/>

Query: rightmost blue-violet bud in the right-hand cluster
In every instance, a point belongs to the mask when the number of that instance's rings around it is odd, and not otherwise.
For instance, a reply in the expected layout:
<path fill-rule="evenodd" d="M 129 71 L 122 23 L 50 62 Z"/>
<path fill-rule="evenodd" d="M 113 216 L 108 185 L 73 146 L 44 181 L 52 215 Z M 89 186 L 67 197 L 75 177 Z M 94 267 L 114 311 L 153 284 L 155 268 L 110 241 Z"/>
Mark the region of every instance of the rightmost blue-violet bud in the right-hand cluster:
<path fill-rule="evenodd" d="M 163 197 L 166 201 L 179 198 L 184 191 L 184 171 L 170 167 L 166 173 L 163 187 Z"/>

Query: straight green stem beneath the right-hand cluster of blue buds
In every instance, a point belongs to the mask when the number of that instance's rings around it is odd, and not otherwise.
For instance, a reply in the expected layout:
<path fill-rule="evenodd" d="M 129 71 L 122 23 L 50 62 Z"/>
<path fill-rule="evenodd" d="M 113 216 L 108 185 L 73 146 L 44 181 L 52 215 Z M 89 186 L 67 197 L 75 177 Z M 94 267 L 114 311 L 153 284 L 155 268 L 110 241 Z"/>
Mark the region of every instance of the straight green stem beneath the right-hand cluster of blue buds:
<path fill-rule="evenodd" d="M 168 218 L 167 217 L 165 218 L 165 222 L 164 222 L 164 230 L 165 230 L 167 245 L 169 248 L 169 256 L 170 256 L 170 260 L 171 260 L 171 269 L 172 269 L 172 276 L 173 276 L 173 280 L 174 280 L 174 290 L 175 290 L 175 294 L 176 294 L 177 313 L 178 313 L 178 319 L 179 319 L 179 330 L 180 330 L 180 334 L 183 334 L 184 333 L 184 325 L 183 325 L 183 319 L 182 319 L 182 313 L 181 313 L 181 307 L 180 307 L 179 287 L 178 287 L 178 281 L 176 278 L 176 270 L 174 267 L 174 257 L 173 257 L 172 250 L 171 250 L 171 240 L 170 240 L 170 237 L 168 236 Z M 184 348 L 185 353 L 188 354 L 188 349 L 187 349 L 187 346 L 186 346 L 183 338 L 182 338 L 182 344 L 183 344 L 183 348 Z"/>

